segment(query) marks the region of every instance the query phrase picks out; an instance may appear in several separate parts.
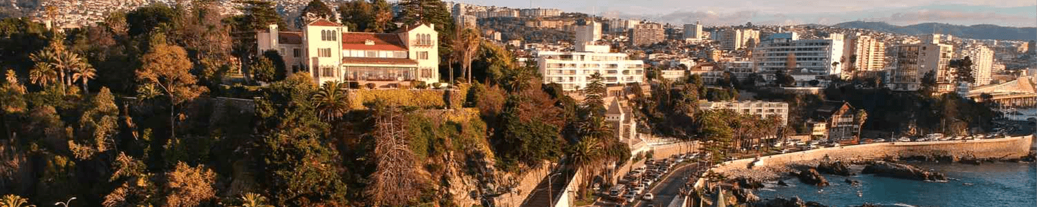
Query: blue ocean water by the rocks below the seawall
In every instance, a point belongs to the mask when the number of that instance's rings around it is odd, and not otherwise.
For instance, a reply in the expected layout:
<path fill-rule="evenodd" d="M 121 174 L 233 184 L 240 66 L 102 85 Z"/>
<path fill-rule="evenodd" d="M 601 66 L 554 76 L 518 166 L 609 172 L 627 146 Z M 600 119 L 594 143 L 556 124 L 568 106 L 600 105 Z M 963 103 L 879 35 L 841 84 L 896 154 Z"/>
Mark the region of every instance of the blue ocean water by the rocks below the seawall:
<path fill-rule="evenodd" d="M 831 184 L 817 187 L 785 178 L 789 186 L 765 184 L 755 194 L 761 199 L 798 196 L 828 206 L 858 206 L 864 203 L 881 206 L 945 207 L 1034 207 L 1037 206 L 1037 164 L 913 164 L 943 172 L 948 182 L 927 182 L 872 175 L 849 176 L 861 181 L 852 186 L 847 177 L 823 175 Z M 858 194 L 860 191 L 860 196 Z"/>

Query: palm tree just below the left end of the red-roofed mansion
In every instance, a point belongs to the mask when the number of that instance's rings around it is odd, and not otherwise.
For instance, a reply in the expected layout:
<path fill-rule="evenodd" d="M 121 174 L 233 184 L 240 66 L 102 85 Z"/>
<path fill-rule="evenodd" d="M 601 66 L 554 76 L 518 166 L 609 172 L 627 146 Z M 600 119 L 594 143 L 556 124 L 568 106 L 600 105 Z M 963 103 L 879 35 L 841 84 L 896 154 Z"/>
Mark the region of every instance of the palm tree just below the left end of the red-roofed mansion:
<path fill-rule="evenodd" d="M 337 81 L 325 82 L 312 100 L 316 105 L 317 116 L 324 121 L 334 121 L 341 118 L 349 111 L 349 100 L 346 97 L 346 90 Z"/>

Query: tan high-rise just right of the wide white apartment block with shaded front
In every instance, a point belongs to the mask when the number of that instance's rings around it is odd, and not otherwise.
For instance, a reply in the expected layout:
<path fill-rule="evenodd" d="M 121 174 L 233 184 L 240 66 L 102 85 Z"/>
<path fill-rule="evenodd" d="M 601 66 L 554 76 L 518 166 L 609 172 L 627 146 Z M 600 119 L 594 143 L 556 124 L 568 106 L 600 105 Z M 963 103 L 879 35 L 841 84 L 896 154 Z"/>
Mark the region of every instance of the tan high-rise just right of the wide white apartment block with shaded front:
<path fill-rule="evenodd" d="M 845 72 L 876 71 L 886 67 L 886 43 L 874 37 L 853 34 L 846 38 L 845 49 L 839 60 Z"/>

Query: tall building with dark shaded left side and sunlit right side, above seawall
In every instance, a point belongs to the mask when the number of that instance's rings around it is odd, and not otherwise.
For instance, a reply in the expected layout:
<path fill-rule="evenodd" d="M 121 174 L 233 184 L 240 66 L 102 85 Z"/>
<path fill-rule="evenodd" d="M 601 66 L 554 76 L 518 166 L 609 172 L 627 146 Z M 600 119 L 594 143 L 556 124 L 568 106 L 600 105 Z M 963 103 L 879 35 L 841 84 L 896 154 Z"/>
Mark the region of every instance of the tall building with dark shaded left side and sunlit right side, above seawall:
<path fill-rule="evenodd" d="M 948 66 L 954 56 L 954 47 L 940 43 L 940 35 L 925 35 L 921 43 L 897 46 L 896 61 L 890 73 L 889 88 L 915 91 L 921 88 L 926 72 L 934 72 L 936 92 L 954 91 L 954 71 Z"/>

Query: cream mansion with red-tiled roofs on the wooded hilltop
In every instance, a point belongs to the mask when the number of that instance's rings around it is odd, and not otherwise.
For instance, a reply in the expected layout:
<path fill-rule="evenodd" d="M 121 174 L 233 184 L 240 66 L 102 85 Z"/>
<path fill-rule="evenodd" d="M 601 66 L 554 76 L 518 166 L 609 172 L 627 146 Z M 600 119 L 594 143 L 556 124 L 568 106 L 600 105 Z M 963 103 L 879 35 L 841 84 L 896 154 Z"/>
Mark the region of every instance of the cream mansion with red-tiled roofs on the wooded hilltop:
<path fill-rule="evenodd" d="M 404 25 L 394 33 L 349 32 L 327 20 L 313 21 L 302 31 L 256 32 L 259 53 L 275 50 L 288 75 L 310 72 L 316 84 L 329 81 L 377 86 L 439 82 L 438 33 L 432 25 Z"/>

